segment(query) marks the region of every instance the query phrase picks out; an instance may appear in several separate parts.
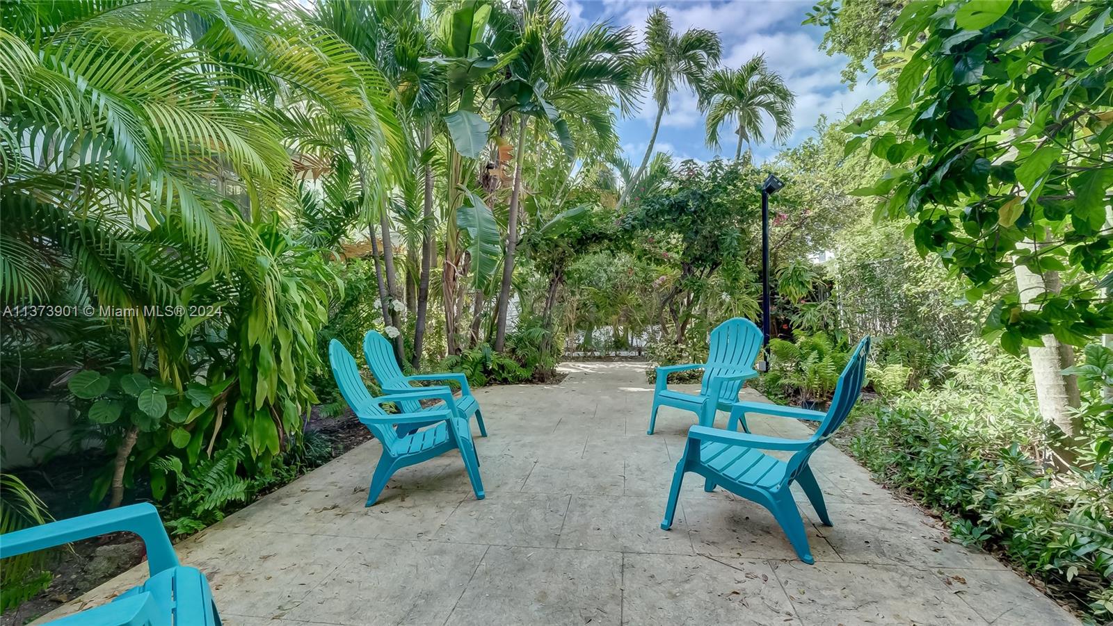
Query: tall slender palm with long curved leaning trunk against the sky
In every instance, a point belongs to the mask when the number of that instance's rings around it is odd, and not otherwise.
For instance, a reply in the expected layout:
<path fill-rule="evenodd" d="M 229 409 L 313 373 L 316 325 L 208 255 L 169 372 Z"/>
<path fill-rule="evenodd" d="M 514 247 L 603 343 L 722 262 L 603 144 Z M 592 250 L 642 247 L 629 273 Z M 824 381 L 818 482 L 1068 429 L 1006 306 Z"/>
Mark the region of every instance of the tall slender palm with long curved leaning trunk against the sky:
<path fill-rule="evenodd" d="M 633 175 L 633 181 L 640 179 L 649 166 L 657 133 L 661 129 L 661 118 L 669 110 L 669 95 L 680 85 L 687 85 L 698 96 L 702 95 L 707 73 L 719 62 L 721 56 L 722 43 L 715 31 L 693 28 L 678 36 L 672 30 L 672 20 L 662 9 L 653 9 L 649 14 L 646 20 L 646 51 L 641 54 L 639 66 L 643 80 L 653 92 L 657 118 L 653 120 L 653 132 L 649 136 L 646 156 Z M 619 207 L 626 203 L 631 188 L 632 186 L 628 186 L 622 191 Z"/>

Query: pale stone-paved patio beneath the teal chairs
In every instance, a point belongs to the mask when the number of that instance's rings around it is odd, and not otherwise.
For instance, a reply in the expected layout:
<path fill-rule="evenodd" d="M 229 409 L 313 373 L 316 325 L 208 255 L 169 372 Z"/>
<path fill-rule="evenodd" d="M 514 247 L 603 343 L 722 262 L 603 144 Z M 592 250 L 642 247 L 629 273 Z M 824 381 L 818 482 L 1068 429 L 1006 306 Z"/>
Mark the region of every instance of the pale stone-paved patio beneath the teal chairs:
<path fill-rule="evenodd" d="M 812 457 L 835 526 L 802 493 L 814 566 L 761 507 L 686 480 L 659 524 L 693 416 L 646 435 L 644 364 L 577 362 L 558 386 L 477 391 L 486 499 L 459 455 L 400 471 L 364 508 L 370 441 L 178 545 L 229 625 L 1077 624 L 991 556 L 945 540 L 831 446 Z M 695 388 L 695 387 L 692 387 Z M 761 399 L 745 390 L 747 399 Z M 720 414 L 720 426 L 726 416 Z M 751 420 L 805 437 L 800 424 Z M 136 568 L 71 603 L 136 584 Z"/>

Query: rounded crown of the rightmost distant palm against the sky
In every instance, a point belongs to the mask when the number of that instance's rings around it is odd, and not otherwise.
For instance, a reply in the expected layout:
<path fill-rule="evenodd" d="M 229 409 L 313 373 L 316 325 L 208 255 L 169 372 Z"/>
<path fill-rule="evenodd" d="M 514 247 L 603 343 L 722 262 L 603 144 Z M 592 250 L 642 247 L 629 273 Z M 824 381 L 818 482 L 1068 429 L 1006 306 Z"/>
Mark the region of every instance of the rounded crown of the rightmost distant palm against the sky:
<path fill-rule="evenodd" d="M 765 140 L 765 117 L 772 120 L 774 140 L 784 141 L 792 133 L 792 105 L 796 96 L 779 73 L 769 69 L 764 54 L 756 54 L 737 70 L 711 72 L 700 109 L 707 115 L 707 145 L 719 148 L 719 127 L 733 122 L 738 135 L 735 160 L 747 146 Z M 748 149 L 748 148 L 747 148 Z"/>

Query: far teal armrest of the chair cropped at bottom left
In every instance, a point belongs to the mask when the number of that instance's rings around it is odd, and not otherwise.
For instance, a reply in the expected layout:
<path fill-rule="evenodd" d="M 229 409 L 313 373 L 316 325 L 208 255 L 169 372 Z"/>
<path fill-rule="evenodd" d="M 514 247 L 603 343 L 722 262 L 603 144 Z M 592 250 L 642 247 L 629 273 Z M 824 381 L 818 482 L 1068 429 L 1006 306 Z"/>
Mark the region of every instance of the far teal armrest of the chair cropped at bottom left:
<path fill-rule="evenodd" d="M 151 576 L 178 566 L 178 557 L 162 527 L 162 519 L 150 503 L 100 510 L 0 535 L 0 558 L 121 531 L 135 533 L 142 539 Z"/>

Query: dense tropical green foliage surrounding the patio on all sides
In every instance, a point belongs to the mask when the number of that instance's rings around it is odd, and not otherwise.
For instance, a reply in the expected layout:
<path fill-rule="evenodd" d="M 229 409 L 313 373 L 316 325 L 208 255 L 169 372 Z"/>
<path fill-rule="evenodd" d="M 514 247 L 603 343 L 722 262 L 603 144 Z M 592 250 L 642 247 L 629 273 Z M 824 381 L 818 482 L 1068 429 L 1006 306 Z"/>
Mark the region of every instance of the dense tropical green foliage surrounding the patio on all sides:
<path fill-rule="evenodd" d="M 850 450 L 1113 613 L 1109 0 L 820 0 L 844 80 L 873 64 L 887 92 L 764 163 L 792 81 L 721 67 L 666 9 L 641 39 L 555 0 L 0 14 L 0 398 L 28 441 L 43 406 L 77 411 L 87 507 L 154 499 L 187 535 L 324 461 L 309 423 L 346 409 L 323 347 L 362 358 L 368 329 L 474 386 L 569 354 L 701 361 L 717 324 L 759 320 L 776 172 L 758 387 L 821 407 L 874 336 Z M 732 159 L 654 153 L 681 88 Z M 0 530 L 46 518 L 2 480 Z M 6 563 L 3 606 L 49 580 Z"/>

